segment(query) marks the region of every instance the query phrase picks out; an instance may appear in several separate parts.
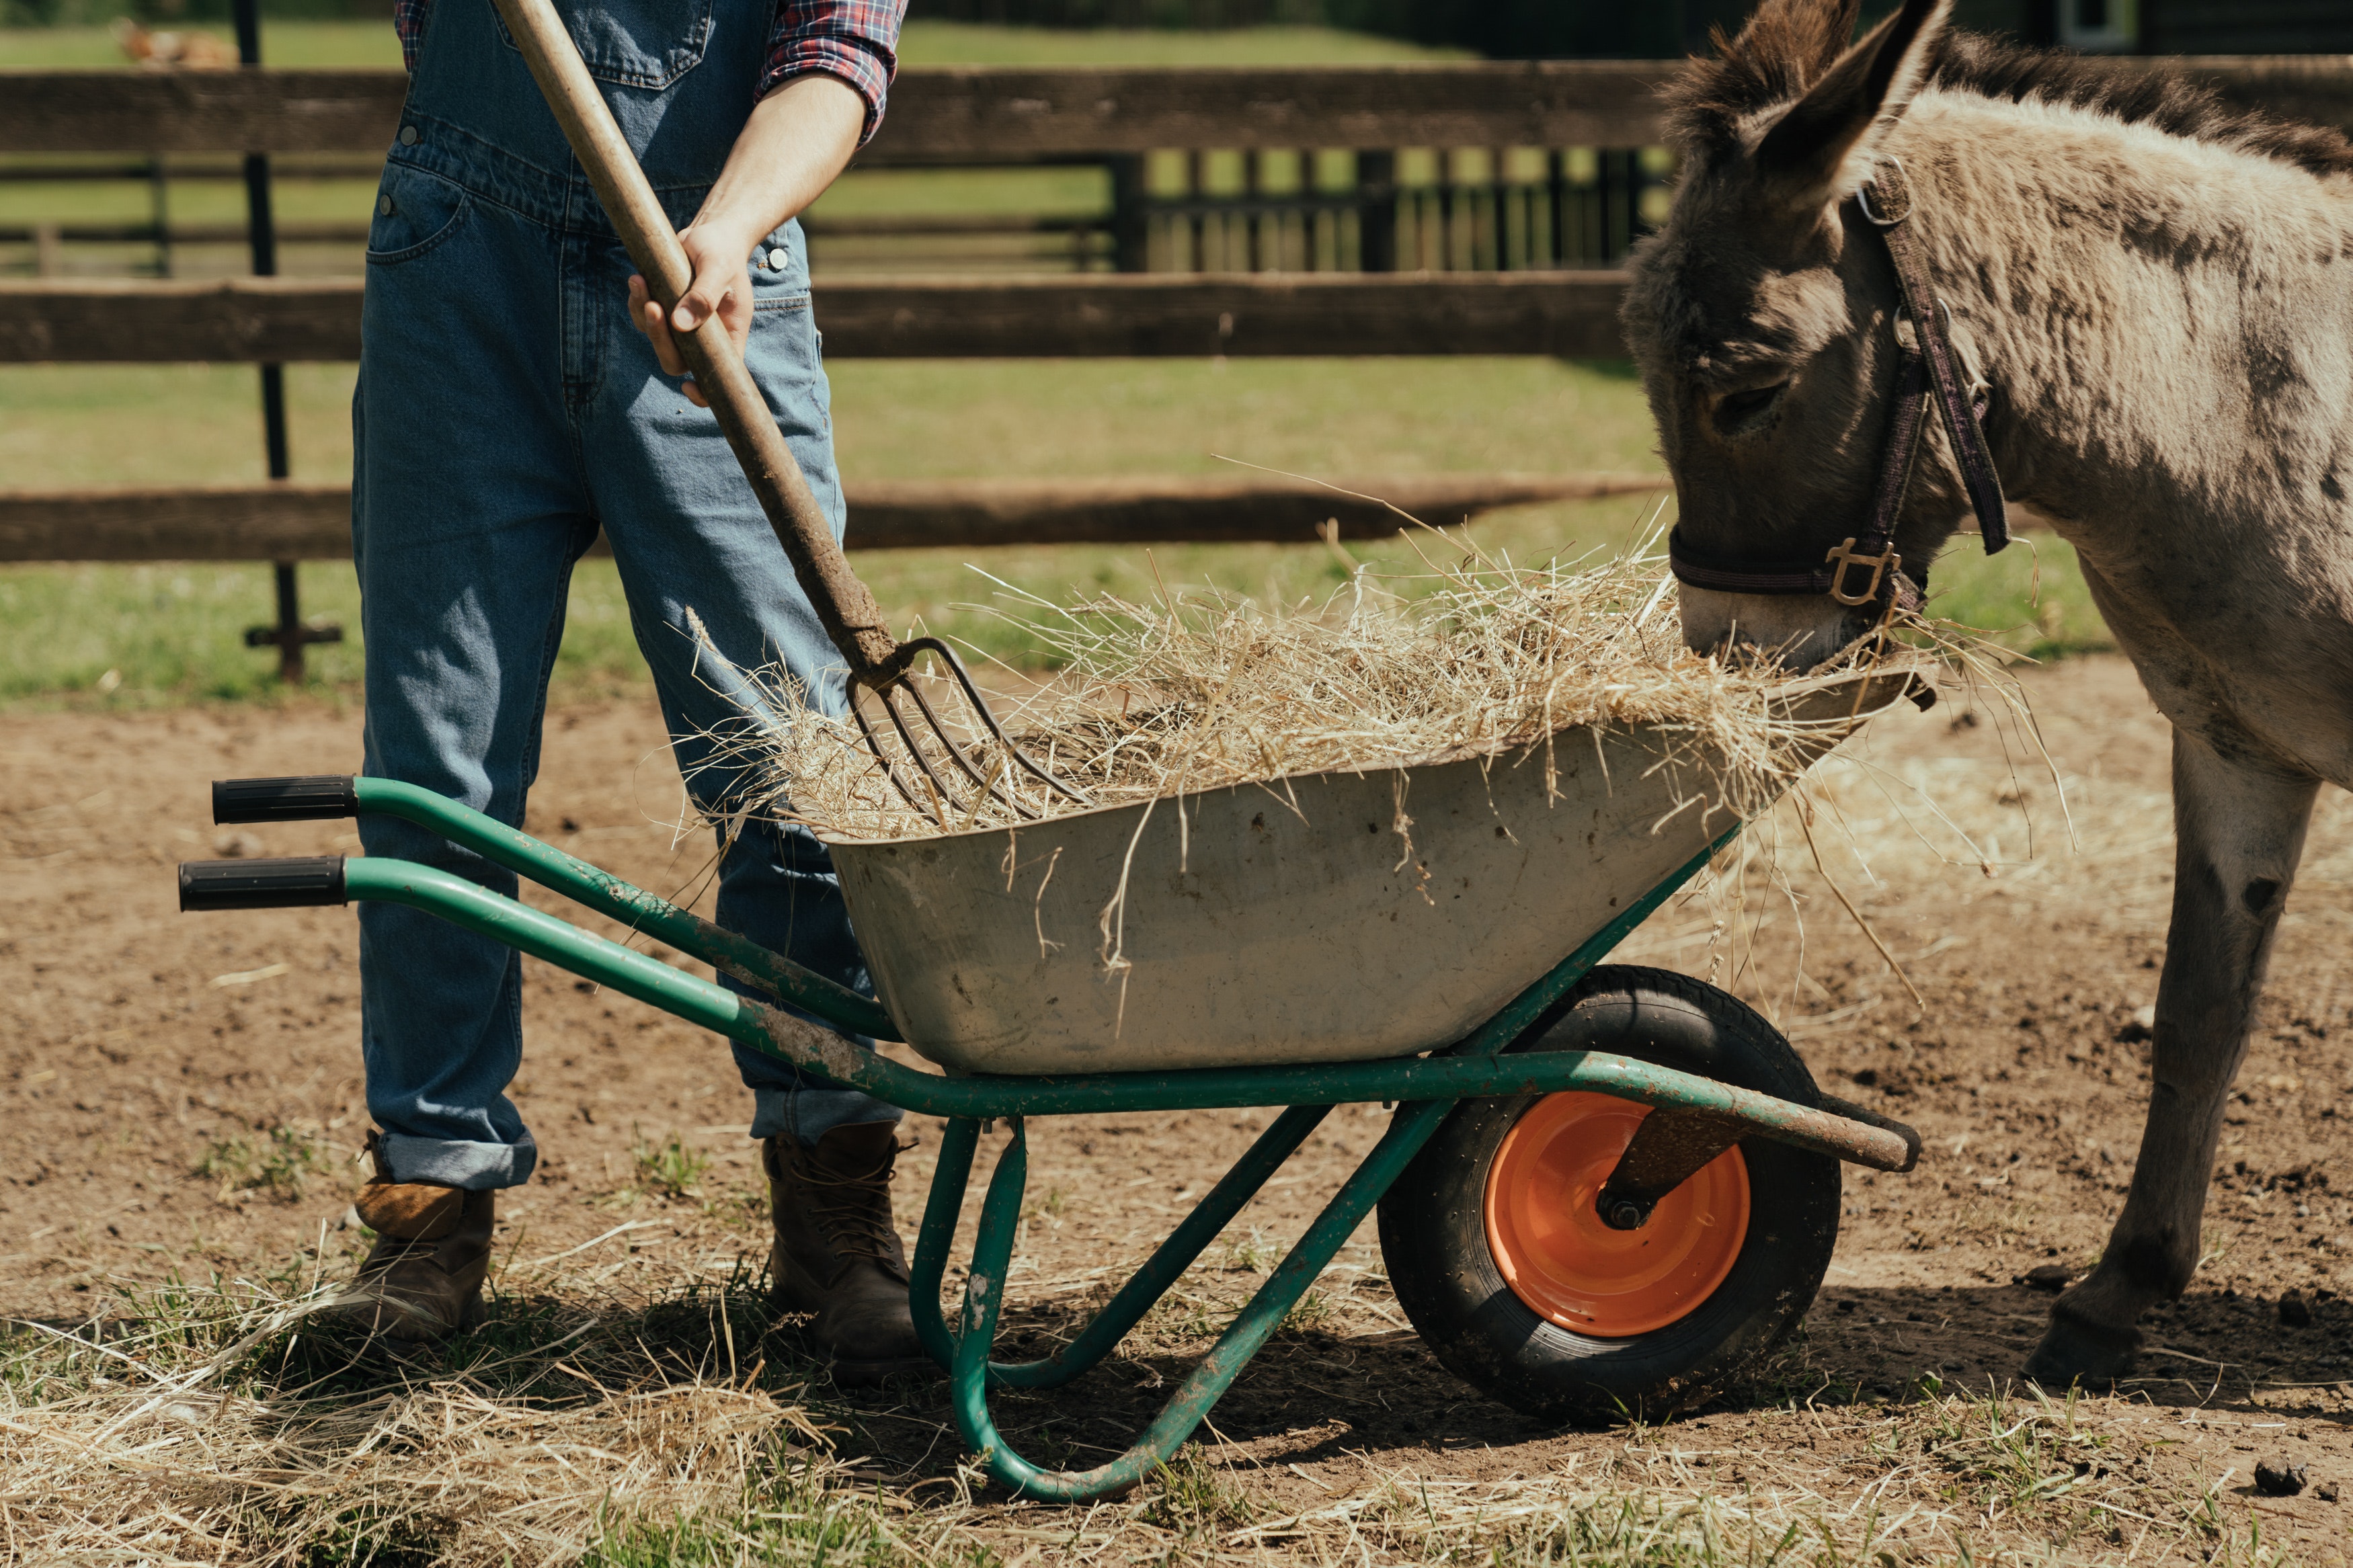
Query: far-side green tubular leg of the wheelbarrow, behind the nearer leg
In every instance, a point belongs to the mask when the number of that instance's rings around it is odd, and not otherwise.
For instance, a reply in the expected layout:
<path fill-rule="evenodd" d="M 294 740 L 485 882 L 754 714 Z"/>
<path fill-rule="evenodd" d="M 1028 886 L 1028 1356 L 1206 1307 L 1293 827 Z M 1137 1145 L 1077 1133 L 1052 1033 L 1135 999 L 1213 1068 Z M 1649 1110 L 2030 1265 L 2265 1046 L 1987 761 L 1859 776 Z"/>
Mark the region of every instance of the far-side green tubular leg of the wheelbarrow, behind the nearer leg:
<path fill-rule="evenodd" d="M 1202 1248 L 1217 1239 L 1233 1215 L 1242 1213 L 1282 1168 L 1282 1161 L 1306 1143 L 1308 1133 L 1332 1114 L 1329 1105 L 1294 1105 L 1259 1133 L 1249 1152 L 1193 1206 L 1167 1241 L 1162 1241 L 1141 1269 L 1129 1276 L 1120 1293 L 1078 1333 L 1075 1340 L 1042 1361 L 991 1361 L 988 1385 L 1012 1389 L 1059 1389 L 1096 1361 L 1108 1356 L 1127 1331 L 1151 1312 L 1153 1302 L 1193 1267 Z M 955 1215 L 962 1208 L 965 1187 L 972 1180 L 972 1154 L 979 1140 L 976 1121 L 951 1121 L 939 1145 L 939 1168 L 932 1175 L 932 1197 L 925 1204 L 922 1232 L 915 1237 L 915 1267 L 911 1305 L 915 1312 L 915 1335 L 932 1359 L 944 1368 L 955 1361 L 955 1340 L 939 1316 L 939 1284 L 948 1269 L 948 1244 L 955 1237 Z"/>

